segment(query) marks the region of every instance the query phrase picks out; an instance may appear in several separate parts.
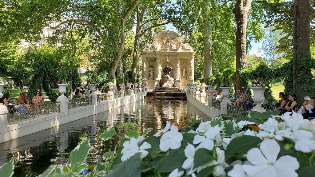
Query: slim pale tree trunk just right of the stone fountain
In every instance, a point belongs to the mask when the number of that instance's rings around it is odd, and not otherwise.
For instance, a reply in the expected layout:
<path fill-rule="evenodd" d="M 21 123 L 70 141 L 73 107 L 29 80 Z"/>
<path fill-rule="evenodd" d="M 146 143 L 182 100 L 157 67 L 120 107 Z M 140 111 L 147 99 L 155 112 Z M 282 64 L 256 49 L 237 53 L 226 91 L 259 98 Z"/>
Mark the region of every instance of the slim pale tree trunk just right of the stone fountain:
<path fill-rule="evenodd" d="M 203 83 L 207 83 L 208 78 L 212 75 L 212 59 L 211 59 L 211 46 L 212 46 L 212 25 L 208 16 L 209 1 L 203 4 L 203 30 L 204 30 L 204 70 L 203 70 Z"/>

